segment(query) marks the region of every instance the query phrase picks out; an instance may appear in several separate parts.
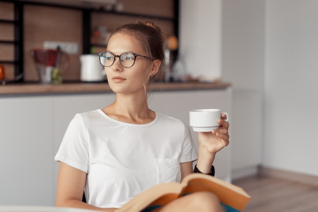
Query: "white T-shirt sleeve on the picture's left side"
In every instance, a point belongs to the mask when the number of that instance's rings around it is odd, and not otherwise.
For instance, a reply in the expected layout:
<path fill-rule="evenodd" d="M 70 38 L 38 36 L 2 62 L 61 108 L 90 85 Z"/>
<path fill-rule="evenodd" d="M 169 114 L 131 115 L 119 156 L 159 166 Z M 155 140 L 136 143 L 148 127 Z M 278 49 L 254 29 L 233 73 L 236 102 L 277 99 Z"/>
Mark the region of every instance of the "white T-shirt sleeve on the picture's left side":
<path fill-rule="evenodd" d="M 62 139 L 55 161 L 60 161 L 87 173 L 89 163 L 89 143 L 83 118 L 76 114 L 71 120 Z"/>

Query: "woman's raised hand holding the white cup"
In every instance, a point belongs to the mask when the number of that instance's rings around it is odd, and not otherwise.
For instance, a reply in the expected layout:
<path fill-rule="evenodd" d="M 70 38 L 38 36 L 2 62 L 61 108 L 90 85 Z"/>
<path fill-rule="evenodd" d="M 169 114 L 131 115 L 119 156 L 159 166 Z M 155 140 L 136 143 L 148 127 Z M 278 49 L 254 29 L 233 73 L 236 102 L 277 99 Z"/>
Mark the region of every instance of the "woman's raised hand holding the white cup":
<path fill-rule="evenodd" d="M 229 123 L 226 122 L 226 115 L 221 114 L 221 119 L 217 120 L 220 125 L 217 130 L 212 132 L 199 132 L 198 139 L 201 150 L 206 150 L 206 153 L 215 155 L 219 150 L 229 144 Z"/>

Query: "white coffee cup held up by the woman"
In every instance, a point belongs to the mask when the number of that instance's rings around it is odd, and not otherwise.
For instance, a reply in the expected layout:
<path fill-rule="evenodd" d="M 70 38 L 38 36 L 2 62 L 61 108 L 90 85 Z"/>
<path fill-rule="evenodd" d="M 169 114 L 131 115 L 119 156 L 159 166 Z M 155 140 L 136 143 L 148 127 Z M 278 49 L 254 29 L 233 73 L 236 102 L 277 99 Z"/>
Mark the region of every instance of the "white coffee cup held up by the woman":
<path fill-rule="evenodd" d="M 229 120 L 229 115 L 224 113 Z M 195 132 L 211 132 L 219 127 L 217 119 L 221 118 L 220 109 L 196 109 L 189 111 L 189 123 Z"/>

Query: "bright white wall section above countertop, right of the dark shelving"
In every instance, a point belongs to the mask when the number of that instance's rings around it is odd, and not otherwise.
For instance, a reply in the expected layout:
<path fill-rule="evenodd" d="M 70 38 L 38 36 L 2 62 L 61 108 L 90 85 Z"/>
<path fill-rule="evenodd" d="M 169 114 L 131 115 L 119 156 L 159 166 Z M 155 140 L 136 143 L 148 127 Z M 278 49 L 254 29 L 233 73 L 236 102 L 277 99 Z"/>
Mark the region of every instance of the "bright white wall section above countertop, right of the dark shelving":
<path fill-rule="evenodd" d="M 179 58 L 196 78 L 221 77 L 221 0 L 180 0 Z"/>

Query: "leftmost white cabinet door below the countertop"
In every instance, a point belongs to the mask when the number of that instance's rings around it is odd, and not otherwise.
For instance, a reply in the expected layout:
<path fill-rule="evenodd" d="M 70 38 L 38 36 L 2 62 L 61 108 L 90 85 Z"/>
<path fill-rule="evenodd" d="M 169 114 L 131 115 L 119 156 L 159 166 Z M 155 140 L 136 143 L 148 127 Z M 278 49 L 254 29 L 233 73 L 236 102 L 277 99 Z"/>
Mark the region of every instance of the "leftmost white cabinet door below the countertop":
<path fill-rule="evenodd" d="M 0 205 L 54 205 L 52 98 L 0 98 Z"/>

